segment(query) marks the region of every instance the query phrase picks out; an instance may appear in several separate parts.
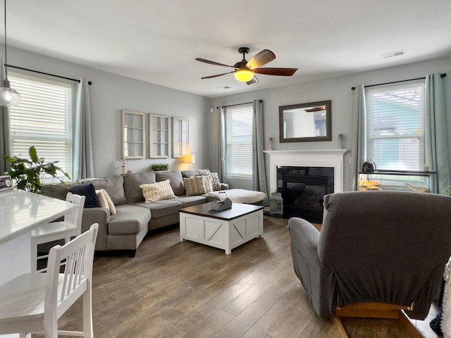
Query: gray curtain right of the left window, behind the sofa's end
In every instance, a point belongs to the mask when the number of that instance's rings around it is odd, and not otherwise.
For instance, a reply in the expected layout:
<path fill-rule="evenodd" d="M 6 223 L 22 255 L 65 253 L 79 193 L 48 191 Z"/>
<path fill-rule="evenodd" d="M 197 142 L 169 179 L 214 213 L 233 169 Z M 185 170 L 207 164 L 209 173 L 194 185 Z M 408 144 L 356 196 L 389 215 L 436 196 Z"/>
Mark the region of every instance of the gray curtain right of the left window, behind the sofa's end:
<path fill-rule="evenodd" d="M 91 109 L 89 106 L 89 85 L 87 80 L 80 79 L 77 86 L 77 103 L 75 107 L 75 142 L 73 180 L 94 177 L 92 161 Z"/>

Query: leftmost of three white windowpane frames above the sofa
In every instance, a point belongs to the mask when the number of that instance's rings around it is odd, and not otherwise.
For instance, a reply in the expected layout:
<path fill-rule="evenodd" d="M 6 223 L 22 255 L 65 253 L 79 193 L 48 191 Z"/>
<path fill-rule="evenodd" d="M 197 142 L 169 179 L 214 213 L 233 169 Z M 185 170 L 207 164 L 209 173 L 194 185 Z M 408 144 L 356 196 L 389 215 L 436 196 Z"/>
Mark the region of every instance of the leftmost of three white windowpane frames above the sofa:
<path fill-rule="evenodd" d="M 144 113 L 122 111 L 122 157 L 144 158 Z"/>

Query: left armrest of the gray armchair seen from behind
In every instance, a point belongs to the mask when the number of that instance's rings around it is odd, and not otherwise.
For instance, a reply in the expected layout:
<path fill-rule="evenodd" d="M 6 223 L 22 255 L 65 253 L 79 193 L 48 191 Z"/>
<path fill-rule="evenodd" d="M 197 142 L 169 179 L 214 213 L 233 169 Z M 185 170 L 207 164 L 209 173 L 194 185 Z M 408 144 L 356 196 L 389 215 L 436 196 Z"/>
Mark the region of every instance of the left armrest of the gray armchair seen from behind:
<path fill-rule="evenodd" d="M 318 256 L 320 232 L 302 218 L 290 218 L 288 230 L 295 273 L 316 313 L 329 318 L 336 305 L 336 281 L 332 270 Z"/>

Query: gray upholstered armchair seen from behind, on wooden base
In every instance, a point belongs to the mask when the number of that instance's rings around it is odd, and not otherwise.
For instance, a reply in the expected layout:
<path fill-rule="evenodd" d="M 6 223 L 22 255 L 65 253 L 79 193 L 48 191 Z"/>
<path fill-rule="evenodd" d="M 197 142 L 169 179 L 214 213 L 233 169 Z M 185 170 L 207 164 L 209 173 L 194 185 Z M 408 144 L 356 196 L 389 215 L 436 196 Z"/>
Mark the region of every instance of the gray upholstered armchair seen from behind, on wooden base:
<path fill-rule="evenodd" d="M 291 218 L 288 227 L 295 273 L 320 317 L 336 319 L 355 306 L 359 310 L 348 316 L 396 318 L 393 311 L 391 317 L 371 315 L 359 306 L 364 303 L 384 310 L 394 304 L 422 320 L 451 255 L 451 197 L 329 194 L 321 233 L 300 218 Z"/>

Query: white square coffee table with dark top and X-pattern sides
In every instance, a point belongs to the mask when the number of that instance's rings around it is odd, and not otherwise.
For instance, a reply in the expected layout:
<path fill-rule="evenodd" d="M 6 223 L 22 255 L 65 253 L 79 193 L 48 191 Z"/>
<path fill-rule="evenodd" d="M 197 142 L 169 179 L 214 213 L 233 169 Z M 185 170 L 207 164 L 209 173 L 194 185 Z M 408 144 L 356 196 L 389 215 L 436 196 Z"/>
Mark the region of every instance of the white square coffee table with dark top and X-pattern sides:
<path fill-rule="evenodd" d="M 263 206 L 233 203 L 228 210 L 214 211 L 206 203 L 180 209 L 180 242 L 214 246 L 230 255 L 257 237 L 263 237 Z"/>

